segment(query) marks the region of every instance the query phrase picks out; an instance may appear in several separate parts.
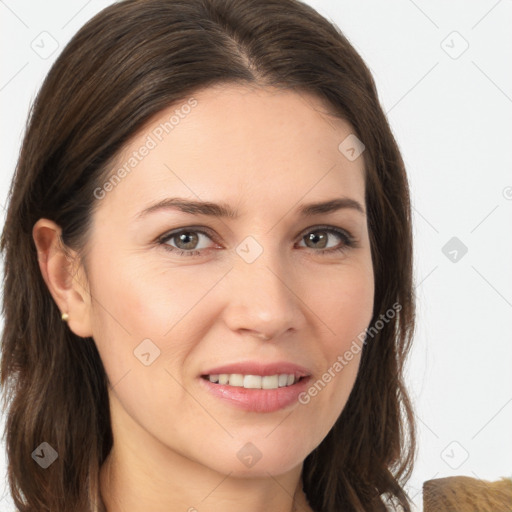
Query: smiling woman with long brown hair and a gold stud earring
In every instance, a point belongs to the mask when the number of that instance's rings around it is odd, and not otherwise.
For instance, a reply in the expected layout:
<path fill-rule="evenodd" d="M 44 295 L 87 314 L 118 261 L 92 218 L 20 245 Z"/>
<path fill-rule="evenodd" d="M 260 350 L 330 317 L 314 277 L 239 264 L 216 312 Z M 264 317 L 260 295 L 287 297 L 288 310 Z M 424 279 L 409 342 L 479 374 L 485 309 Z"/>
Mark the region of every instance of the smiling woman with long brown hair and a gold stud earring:
<path fill-rule="evenodd" d="M 128 0 L 31 112 L 2 235 L 20 511 L 410 510 L 407 178 L 295 0 Z"/>

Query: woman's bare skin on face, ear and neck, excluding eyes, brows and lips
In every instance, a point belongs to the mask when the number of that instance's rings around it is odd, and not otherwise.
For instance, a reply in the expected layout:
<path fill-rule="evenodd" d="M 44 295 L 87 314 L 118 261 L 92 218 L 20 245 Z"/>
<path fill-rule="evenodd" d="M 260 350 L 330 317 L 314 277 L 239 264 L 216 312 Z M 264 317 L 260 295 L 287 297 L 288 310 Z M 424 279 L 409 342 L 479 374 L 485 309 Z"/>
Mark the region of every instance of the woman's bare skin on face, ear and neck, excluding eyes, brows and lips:
<path fill-rule="evenodd" d="M 288 512 L 294 496 L 296 509 L 309 511 L 303 461 L 343 410 L 360 354 L 308 404 L 269 413 L 212 396 L 199 375 L 238 361 L 291 361 L 314 382 L 368 327 L 374 277 L 365 212 L 296 213 L 339 197 L 365 210 L 364 160 L 339 151 L 353 129 L 316 97 L 223 84 L 194 98 L 191 112 L 97 200 L 87 269 L 75 253 L 65 256 L 55 223 L 40 219 L 33 230 L 50 292 L 69 328 L 94 338 L 111 384 L 114 447 L 102 495 L 109 512 Z M 152 119 L 117 165 L 179 107 Z M 222 201 L 240 217 L 168 209 L 135 219 L 166 197 Z M 323 242 L 308 244 L 307 234 L 328 236 L 327 248 L 345 242 L 319 225 L 348 231 L 356 245 L 322 255 Z M 198 256 L 155 242 L 189 226 L 213 235 L 199 234 Z M 236 252 L 247 236 L 263 249 L 252 263 Z M 166 243 L 193 250 L 193 241 Z M 160 354 L 146 366 L 134 350 L 148 338 Z M 261 454 L 250 468 L 237 457 L 248 442 Z"/>

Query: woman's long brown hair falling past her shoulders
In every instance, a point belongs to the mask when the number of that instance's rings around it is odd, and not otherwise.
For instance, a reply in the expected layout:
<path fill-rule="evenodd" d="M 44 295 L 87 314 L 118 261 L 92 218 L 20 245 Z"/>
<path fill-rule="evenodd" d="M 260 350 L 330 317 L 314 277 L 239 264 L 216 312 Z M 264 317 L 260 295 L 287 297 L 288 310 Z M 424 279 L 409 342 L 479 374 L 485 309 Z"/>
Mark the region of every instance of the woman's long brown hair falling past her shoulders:
<path fill-rule="evenodd" d="M 339 29 L 297 0 L 127 0 L 73 37 L 30 112 L 1 238 L 5 275 L 1 385 L 8 476 L 20 512 L 102 511 L 99 470 L 113 439 L 108 379 L 92 338 L 73 334 L 41 276 L 32 238 L 44 217 L 86 254 L 94 190 L 155 114 L 213 84 L 308 92 L 366 146 L 366 207 L 375 275 L 372 325 L 342 414 L 305 459 L 303 485 L 322 512 L 406 511 L 414 422 L 403 366 L 414 330 L 412 229 L 404 163 L 373 78 Z M 341 142 L 341 141 L 340 141 Z M 382 323 L 382 322 L 381 322 Z M 59 458 L 32 459 L 42 442 Z"/>

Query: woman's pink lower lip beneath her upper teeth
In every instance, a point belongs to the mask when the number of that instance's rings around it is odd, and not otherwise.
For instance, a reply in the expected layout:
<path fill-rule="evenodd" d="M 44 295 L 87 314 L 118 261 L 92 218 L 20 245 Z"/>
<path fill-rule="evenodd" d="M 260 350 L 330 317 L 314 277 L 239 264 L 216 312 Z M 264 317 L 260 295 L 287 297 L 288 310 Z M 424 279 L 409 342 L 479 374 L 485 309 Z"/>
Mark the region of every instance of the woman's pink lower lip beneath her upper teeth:
<path fill-rule="evenodd" d="M 274 412 L 297 402 L 299 395 L 308 387 L 310 377 L 304 377 L 291 386 L 277 389 L 246 389 L 236 386 L 214 384 L 199 377 L 201 385 L 212 395 L 252 412 Z"/>

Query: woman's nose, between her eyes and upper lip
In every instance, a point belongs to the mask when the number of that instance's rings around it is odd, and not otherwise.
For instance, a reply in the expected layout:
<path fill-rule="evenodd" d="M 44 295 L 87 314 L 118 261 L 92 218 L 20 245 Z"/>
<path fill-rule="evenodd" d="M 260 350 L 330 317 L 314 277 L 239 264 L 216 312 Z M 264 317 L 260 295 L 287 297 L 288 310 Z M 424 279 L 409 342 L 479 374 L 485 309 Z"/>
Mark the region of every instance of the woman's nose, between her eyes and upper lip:
<path fill-rule="evenodd" d="M 232 332 L 275 340 L 299 331 L 306 322 L 300 283 L 290 264 L 265 249 L 252 263 L 235 256 L 224 283 L 224 321 Z M 297 293 L 298 292 L 298 293 Z"/>

